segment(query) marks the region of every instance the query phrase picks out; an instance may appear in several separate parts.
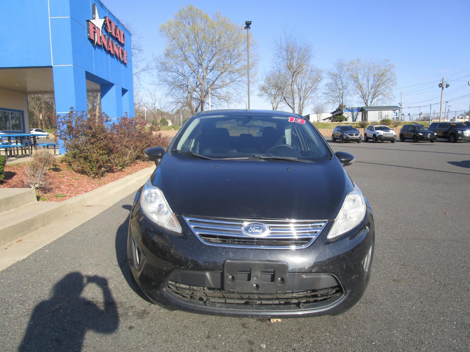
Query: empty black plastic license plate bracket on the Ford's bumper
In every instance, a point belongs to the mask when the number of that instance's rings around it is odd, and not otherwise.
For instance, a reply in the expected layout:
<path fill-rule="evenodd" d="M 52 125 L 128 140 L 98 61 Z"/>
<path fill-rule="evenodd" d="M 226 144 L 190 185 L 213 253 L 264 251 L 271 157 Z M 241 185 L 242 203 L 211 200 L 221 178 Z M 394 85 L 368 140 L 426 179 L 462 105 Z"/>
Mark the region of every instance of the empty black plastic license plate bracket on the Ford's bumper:
<path fill-rule="evenodd" d="M 274 260 L 226 260 L 224 291 L 282 294 L 287 291 L 289 265 Z"/>

